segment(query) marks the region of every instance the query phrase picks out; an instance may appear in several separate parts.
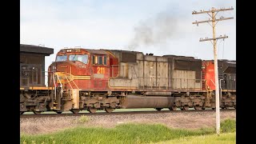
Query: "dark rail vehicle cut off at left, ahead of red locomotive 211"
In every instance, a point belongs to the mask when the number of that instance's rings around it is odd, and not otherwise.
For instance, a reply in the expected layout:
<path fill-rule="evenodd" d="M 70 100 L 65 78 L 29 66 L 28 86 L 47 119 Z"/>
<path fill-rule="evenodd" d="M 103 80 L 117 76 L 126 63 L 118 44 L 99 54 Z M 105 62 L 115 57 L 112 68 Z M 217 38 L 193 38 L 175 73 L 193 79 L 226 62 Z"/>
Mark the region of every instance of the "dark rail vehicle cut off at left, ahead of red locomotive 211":
<path fill-rule="evenodd" d="M 54 49 L 20 44 L 20 114 L 50 110 L 54 87 L 45 85 L 45 57 L 50 54 L 54 54 Z"/>

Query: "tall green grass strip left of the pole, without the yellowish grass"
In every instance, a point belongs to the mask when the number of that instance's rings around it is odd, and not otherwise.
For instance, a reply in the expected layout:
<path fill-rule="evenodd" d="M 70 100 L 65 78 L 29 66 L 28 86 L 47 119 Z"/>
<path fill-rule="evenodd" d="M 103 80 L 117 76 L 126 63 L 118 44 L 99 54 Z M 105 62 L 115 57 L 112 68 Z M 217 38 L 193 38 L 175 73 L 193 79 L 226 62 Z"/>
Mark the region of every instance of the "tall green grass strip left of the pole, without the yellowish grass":
<path fill-rule="evenodd" d="M 54 134 L 21 135 L 21 143 L 142 143 L 213 134 L 214 129 L 175 130 L 163 125 L 122 124 L 113 129 L 77 127 Z"/>

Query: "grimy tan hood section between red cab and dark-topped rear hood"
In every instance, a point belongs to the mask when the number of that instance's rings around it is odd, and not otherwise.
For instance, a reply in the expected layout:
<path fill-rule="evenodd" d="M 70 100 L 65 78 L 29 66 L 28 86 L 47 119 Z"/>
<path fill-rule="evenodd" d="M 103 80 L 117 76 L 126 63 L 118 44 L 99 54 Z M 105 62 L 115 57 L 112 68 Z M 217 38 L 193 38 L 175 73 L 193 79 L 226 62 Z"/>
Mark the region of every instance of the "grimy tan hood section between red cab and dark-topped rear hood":
<path fill-rule="evenodd" d="M 110 78 L 110 88 L 168 89 L 167 58 L 121 50 L 111 52 L 120 62 L 118 77 Z"/>

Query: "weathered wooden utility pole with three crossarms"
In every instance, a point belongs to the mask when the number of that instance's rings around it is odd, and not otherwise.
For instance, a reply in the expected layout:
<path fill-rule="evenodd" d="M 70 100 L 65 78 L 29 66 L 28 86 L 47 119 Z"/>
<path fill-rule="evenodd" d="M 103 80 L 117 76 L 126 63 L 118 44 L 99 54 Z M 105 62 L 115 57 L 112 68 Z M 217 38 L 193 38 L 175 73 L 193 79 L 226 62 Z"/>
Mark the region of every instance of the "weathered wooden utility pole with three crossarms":
<path fill-rule="evenodd" d="M 218 21 L 224 21 L 224 20 L 228 20 L 228 19 L 233 19 L 233 17 L 230 18 L 224 18 L 224 17 L 220 17 L 218 19 L 216 19 L 216 15 L 218 14 L 219 11 L 226 11 L 226 10 L 234 10 L 233 7 L 228 8 L 228 9 L 214 9 L 214 7 L 212 7 L 211 10 L 205 11 L 205 10 L 200 10 L 200 12 L 197 11 L 193 11 L 192 14 L 208 14 L 210 16 L 209 20 L 206 21 L 201 21 L 201 22 L 193 22 L 192 24 L 198 24 L 199 23 L 205 23 L 208 22 L 210 24 L 210 22 L 212 23 L 210 26 L 212 26 L 213 28 L 213 38 L 200 38 L 199 42 L 204 42 L 204 41 L 210 41 L 213 45 L 214 45 L 214 75 L 215 75 L 215 103 L 216 103 L 216 133 L 220 134 L 220 114 L 219 114 L 219 87 L 218 87 L 218 57 L 217 57 L 217 47 L 216 47 L 216 43 L 218 39 L 224 39 L 224 38 L 228 38 L 226 35 L 224 36 L 220 36 L 218 38 L 215 37 L 215 26 L 217 25 Z M 211 13 L 211 15 L 210 15 Z M 216 14 L 215 14 L 216 13 Z M 215 23 L 216 22 L 216 23 Z M 212 42 L 211 40 L 213 40 L 214 42 Z"/>

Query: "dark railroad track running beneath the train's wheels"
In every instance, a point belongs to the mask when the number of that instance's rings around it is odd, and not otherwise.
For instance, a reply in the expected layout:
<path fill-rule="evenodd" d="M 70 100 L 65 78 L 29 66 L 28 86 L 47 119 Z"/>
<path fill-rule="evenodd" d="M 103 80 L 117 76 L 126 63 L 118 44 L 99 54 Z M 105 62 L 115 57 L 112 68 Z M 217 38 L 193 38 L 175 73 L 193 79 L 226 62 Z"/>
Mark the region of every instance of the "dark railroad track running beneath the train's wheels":
<path fill-rule="evenodd" d="M 125 111 L 125 112 L 97 112 L 97 113 L 78 113 L 78 114 L 22 114 L 20 118 L 46 118 L 46 117 L 77 117 L 94 115 L 120 115 L 120 114 L 162 114 L 162 113 L 194 113 L 194 112 L 214 112 L 215 110 L 162 110 L 162 111 Z M 235 109 L 221 109 L 220 111 L 235 111 Z"/>

